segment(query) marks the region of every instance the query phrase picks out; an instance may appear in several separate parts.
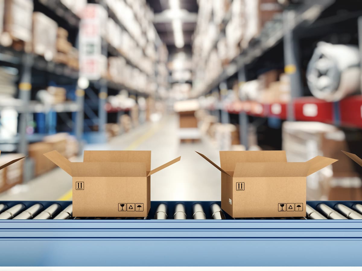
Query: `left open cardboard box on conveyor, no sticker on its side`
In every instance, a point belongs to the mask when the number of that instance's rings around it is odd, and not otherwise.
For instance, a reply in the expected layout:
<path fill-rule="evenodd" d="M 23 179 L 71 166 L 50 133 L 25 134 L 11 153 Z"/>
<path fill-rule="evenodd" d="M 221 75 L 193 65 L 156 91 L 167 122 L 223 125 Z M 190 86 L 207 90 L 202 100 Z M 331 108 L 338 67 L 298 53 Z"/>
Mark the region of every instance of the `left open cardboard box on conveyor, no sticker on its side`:
<path fill-rule="evenodd" d="M 72 163 L 57 151 L 44 154 L 73 177 L 73 216 L 144 217 L 150 211 L 151 151 L 84 151 Z"/>

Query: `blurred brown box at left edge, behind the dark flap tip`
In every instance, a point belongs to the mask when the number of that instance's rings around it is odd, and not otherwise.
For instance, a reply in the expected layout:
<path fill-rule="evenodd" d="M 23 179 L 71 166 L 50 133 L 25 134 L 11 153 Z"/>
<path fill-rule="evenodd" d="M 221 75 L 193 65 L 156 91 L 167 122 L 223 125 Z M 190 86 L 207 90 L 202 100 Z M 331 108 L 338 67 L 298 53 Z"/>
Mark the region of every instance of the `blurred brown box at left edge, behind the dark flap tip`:
<path fill-rule="evenodd" d="M 15 164 L 15 162 L 23 158 L 25 156 L 21 154 L 9 154 L 0 158 L 0 192 L 22 182 L 23 163 L 21 161 L 21 163 Z"/>

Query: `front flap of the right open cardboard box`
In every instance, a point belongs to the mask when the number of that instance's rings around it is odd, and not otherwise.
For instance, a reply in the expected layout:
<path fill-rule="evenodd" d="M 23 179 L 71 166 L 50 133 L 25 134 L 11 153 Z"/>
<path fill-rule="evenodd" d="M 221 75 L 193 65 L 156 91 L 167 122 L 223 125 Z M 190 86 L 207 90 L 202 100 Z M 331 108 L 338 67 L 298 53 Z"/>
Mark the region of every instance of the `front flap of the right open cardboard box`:
<path fill-rule="evenodd" d="M 233 177 L 305 177 L 309 165 L 288 162 L 236 163 Z"/>

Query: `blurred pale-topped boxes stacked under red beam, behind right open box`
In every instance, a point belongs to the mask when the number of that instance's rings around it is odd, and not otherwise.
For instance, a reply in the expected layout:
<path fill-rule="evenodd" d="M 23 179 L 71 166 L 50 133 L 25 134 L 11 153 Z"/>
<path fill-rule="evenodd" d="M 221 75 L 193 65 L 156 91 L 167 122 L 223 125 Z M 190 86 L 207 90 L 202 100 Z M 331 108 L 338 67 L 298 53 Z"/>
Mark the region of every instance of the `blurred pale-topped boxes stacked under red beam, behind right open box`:
<path fill-rule="evenodd" d="M 360 137 L 349 137 L 348 132 L 320 122 L 284 122 L 283 149 L 292 162 L 300 162 L 314 155 L 323 155 L 339 160 L 307 178 L 308 199 L 360 200 L 362 182 L 353 161 L 341 150 L 349 150 Z M 353 143 L 354 142 L 354 143 Z M 357 149 L 353 150 L 360 151 Z"/>

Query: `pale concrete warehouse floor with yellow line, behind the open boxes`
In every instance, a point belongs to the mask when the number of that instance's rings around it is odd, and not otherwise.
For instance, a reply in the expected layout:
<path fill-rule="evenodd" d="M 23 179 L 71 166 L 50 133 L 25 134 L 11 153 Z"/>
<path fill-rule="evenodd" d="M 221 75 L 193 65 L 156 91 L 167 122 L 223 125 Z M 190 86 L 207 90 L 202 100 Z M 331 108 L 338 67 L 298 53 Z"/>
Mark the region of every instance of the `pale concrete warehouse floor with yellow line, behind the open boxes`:
<path fill-rule="evenodd" d="M 220 172 L 195 151 L 219 164 L 219 153 L 207 139 L 180 144 L 177 116 L 144 124 L 106 144 L 86 145 L 85 150 L 151 150 L 151 169 L 181 155 L 181 161 L 151 177 L 152 201 L 220 200 Z M 82 161 L 82 157 L 76 161 Z M 72 177 L 60 168 L 0 194 L 0 200 L 71 200 Z"/>

